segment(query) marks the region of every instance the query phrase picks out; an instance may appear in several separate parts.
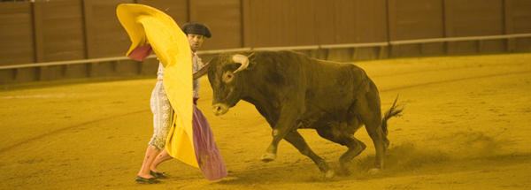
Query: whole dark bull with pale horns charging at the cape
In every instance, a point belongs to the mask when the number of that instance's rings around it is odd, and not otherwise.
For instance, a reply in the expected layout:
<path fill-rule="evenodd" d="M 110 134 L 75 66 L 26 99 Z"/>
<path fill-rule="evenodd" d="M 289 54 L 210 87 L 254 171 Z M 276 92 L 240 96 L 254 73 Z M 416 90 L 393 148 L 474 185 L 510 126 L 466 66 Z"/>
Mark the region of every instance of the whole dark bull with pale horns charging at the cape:
<path fill-rule="evenodd" d="M 239 56 L 235 56 L 239 55 Z M 236 71 L 237 70 L 237 71 Z M 216 115 L 243 100 L 256 106 L 273 128 L 273 141 L 261 157 L 273 161 L 284 139 L 312 158 L 326 178 L 334 171 L 308 147 L 298 128 L 312 128 L 319 136 L 349 149 L 339 159 L 341 171 L 366 145 L 354 138 L 362 125 L 373 140 L 376 156 L 370 172 L 380 172 L 389 147 L 387 120 L 398 115 L 396 100 L 381 117 L 378 89 L 356 65 L 314 59 L 294 51 L 223 53 L 195 78 L 208 72 L 212 85 L 212 111 Z"/>

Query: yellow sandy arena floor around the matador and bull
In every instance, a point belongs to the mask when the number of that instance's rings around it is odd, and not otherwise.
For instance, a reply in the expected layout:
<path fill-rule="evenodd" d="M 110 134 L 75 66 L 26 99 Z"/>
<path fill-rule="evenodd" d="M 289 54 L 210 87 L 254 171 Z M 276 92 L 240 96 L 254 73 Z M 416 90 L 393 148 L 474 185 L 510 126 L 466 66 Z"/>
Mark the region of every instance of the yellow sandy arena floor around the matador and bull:
<path fill-rule="evenodd" d="M 69 80 L 0 86 L 0 189 L 531 189 L 531 54 L 358 62 L 381 91 L 407 103 L 389 120 L 385 171 L 368 175 L 373 143 L 350 176 L 322 179 L 310 158 L 281 141 L 274 162 L 259 160 L 271 128 L 250 103 L 210 110 L 202 79 L 198 107 L 209 119 L 227 178 L 204 179 L 177 160 L 170 179 L 135 184 L 152 135 L 150 79 Z M 299 130 L 335 169 L 346 148 Z"/>

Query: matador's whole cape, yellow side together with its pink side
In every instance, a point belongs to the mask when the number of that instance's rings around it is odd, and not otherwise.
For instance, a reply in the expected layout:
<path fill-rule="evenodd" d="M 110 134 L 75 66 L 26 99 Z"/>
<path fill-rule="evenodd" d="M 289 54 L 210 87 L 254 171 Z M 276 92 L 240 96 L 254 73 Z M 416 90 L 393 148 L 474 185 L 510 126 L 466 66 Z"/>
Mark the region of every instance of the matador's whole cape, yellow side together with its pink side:
<path fill-rule="evenodd" d="M 141 61 L 153 51 L 165 67 L 164 87 L 175 111 L 165 149 L 183 163 L 199 167 L 206 179 L 224 178 L 227 169 L 212 129 L 192 103 L 192 59 L 186 34 L 170 16 L 147 5 L 119 4 L 116 13 L 132 42 L 127 57 Z"/>

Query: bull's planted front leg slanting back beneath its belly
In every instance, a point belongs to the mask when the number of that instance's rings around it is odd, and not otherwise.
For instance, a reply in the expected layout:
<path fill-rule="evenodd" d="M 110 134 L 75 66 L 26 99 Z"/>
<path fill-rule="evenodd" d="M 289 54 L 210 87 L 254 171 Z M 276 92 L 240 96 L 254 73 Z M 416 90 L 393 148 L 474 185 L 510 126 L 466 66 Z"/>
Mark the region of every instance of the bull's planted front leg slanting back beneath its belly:
<path fill-rule="evenodd" d="M 308 144 L 306 144 L 306 141 L 304 141 L 303 136 L 301 136 L 300 133 L 294 130 L 290 130 L 288 134 L 284 137 L 284 140 L 291 143 L 295 148 L 301 152 L 301 154 L 310 157 L 315 164 L 317 164 L 317 167 L 319 167 L 319 170 L 325 175 L 325 178 L 332 179 L 334 177 L 334 170 L 332 170 L 325 159 L 317 156 L 310 147 L 308 147 Z"/>

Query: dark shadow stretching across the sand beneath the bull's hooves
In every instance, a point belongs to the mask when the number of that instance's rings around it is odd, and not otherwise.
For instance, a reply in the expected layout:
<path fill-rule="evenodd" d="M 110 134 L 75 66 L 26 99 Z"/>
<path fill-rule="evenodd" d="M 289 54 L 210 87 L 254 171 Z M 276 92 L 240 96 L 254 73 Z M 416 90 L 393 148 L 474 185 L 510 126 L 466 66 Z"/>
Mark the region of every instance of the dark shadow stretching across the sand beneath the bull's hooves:
<path fill-rule="evenodd" d="M 337 182 L 337 181 L 365 181 L 371 179 L 396 178 L 397 176 L 419 176 L 427 173 L 454 173 L 473 171 L 478 168 L 492 169 L 491 165 L 504 166 L 518 163 L 527 163 L 530 154 L 523 155 L 492 155 L 481 156 L 474 159 L 458 159 L 448 156 L 443 151 L 426 150 L 415 146 L 412 142 L 389 147 L 386 155 L 387 168 L 377 175 L 370 175 L 367 171 L 371 168 L 374 156 L 368 154 L 354 159 L 350 166 L 350 175 L 336 175 L 333 179 L 325 179 L 309 159 L 299 159 L 290 163 L 290 160 L 279 163 L 253 163 L 242 171 L 229 171 L 226 179 L 218 184 L 252 186 L 254 184 L 282 184 L 282 183 L 312 183 L 312 182 Z M 338 170 L 339 163 L 329 162 Z M 473 164 L 471 164 L 473 163 Z M 456 165 L 475 167 L 456 167 Z"/>

